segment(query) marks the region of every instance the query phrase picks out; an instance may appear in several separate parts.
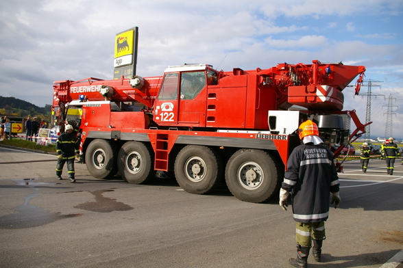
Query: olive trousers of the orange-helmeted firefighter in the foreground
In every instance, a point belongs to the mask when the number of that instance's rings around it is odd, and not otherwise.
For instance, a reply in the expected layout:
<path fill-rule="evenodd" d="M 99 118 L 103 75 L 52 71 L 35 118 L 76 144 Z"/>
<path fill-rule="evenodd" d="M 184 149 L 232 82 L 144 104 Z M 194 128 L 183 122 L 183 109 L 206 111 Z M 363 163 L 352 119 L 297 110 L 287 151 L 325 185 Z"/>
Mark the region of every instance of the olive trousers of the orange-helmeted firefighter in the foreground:
<path fill-rule="evenodd" d="M 310 247 L 312 239 L 326 239 L 325 222 L 297 222 L 295 242 Z"/>

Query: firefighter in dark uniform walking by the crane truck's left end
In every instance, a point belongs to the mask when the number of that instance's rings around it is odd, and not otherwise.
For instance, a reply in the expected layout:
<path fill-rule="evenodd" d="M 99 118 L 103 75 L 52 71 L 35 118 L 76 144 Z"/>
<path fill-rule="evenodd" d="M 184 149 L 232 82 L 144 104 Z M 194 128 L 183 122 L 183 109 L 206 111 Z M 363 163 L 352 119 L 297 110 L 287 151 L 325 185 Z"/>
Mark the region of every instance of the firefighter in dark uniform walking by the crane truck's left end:
<path fill-rule="evenodd" d="M 56 176 L 62 180 L 62 171 L 64 163 L 67 162 L 67 171 L 71 183 L 75 183 L 74 159 L 78 152 L 78 140 L 73 133 L 73 126 L 67 124 L 65 131 L 58 137 L 56 142 L 56 152 L 58 153 L 58 164 L 56 165 Z"/>

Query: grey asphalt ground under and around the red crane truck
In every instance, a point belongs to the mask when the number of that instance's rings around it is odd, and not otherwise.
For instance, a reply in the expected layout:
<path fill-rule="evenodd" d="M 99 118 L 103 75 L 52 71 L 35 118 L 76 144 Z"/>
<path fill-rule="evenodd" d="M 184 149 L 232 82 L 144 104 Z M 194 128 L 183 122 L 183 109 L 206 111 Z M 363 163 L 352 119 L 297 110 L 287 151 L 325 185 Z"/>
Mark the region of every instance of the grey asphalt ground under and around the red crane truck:
<path fill-rule="evenodd" d="M 358 161 L 344 163 L 323 263 L 310 256 L 308 267 L 400 259 L 400 163 L 393 176 L 384 161 L 370 161 L 365 174 Z M 277 199 L 241 202 L 225 187 L 199 196 L 170 178 L 99 180 L 80 164 L 74 184 L 57 180 L 55 167 L 53 155 L 0 148 L 0 267 L 290 267 L 296 256 L 291 209 L 282 211 Z"/>

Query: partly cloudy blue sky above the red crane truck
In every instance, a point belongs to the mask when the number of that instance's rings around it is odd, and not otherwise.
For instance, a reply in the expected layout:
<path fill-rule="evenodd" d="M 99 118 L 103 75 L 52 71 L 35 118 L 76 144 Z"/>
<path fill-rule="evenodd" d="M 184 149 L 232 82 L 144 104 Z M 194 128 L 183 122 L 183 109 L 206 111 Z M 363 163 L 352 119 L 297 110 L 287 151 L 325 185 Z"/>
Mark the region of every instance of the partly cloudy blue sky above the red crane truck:
<path fill-rule="evenodd" d="M 402 25 L 402 0 L 1 1 L 0 96 L 44 107 L 53 81 L 113 79 L 114 38 L 138 27 L 142 77 L 184 63 L 224 71 L 314 59 L 365 66 L 364 84 L 377 95 L 371 137 L 384 137 L 389 114 L 393 137 L 403 138 Z M 361 122 L 368 90 L 343 90 L 344 109 Z"/>

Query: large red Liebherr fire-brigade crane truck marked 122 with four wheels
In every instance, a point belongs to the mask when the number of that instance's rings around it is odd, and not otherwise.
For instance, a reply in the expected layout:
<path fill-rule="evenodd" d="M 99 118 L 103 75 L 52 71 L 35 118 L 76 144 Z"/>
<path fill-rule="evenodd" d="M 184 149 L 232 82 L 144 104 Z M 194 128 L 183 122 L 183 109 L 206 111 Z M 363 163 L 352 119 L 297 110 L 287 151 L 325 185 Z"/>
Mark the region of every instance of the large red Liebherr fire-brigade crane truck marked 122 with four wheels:
<path fill-rule="evenodd" d="M 95 178 L 119 172 L 141 184 L 162 171 L 189 193 L 226 183 L 239 200 L 265 202 L 278 193 L 301 122 L 316 122 L 329 148 L 340 145 L 334 157 L 365 133 L 355 110 L 343 111 L 342 92 L 358 76 L 358 94 L 364 72 L 319 60 L 226 72 L 184 64 L 156 77 L 55 81 L 52 109 L 61 129 L 80 133 Z"/>

